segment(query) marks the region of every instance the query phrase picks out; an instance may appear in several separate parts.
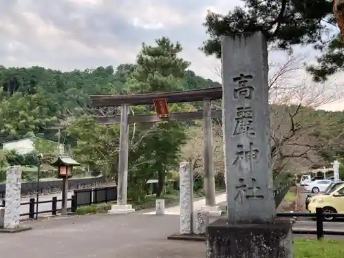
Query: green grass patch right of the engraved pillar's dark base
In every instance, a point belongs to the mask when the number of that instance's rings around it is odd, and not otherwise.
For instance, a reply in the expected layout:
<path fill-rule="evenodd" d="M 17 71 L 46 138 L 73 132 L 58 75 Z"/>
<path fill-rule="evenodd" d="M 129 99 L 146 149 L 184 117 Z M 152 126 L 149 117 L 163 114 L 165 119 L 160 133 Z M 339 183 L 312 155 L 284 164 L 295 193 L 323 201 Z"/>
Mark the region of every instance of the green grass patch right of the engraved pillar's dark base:
<path fill-rule="evenodd" d="M 343 258 L 344 241 L 294 239 L 295 258 Z"/>

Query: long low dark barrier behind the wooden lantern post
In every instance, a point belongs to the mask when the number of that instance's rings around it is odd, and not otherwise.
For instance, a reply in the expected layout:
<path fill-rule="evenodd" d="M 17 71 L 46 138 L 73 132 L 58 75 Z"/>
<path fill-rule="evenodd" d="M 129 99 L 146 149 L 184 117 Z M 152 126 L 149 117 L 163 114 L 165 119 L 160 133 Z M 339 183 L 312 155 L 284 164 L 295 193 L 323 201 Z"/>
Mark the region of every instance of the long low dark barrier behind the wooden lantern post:
<path fill-rule="evenodd" d="M 96 178 L 77 178 L 68 180 L 69 190 L 74 189 L 83 189 L 98 186 L 103 184 L 105 178 L 99 176 Z M 50 180 L 50 181 L 41 181 L 39 182 L 39 193 L 41 194 L 50 194 L 50 193 L 59 193 L 62 189 L 62 180 Z M 21 183 L 21 195 L 34 195 L 36 194 L 36 182 L 24 182 Z M 0 198 L 5 197 L 6 184 L 0 184 Z"/>

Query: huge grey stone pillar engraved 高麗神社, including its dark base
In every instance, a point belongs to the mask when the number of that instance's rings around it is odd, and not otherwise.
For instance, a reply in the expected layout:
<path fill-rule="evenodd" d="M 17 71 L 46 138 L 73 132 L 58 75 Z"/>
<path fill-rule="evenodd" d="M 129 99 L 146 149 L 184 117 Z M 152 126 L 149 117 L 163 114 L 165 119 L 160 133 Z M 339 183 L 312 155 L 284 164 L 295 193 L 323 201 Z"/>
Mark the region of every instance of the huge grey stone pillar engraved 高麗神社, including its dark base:
<path fill-rule="evenodd" d="M 222 39 L 222 87 L 228 217 L 206 228 L 206 257 L 294 257 L 291 224 L 275 212 L 261 32 Z"/>

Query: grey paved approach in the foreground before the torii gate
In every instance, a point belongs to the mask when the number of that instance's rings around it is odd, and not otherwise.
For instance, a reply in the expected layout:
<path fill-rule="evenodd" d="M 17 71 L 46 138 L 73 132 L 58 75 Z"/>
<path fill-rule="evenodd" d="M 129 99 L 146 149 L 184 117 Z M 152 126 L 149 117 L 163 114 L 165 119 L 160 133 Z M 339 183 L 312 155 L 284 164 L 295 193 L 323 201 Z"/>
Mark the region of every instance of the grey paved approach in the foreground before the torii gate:
<path fill-rule="evenodd" d="M 25 222 L 32 230 L 0 235 L 1 257 L 199 258 L 203 241 L 172 241 L 177 215 L 85 215 Z"/>

